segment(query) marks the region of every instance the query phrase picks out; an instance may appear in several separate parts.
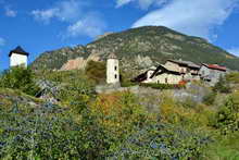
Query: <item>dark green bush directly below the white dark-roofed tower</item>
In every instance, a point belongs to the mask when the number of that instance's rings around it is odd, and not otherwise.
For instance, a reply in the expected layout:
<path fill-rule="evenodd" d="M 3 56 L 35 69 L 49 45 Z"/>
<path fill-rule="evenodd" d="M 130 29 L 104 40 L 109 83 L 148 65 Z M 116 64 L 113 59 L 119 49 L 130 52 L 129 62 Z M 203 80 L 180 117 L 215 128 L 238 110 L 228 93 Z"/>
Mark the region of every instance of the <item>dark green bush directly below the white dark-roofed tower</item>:
<path fill-rule="evenodd" d="M 4 71 L 0 76 L 0 87 L 18 89 L 32 96 L 35 96 L 39 91 L 39 88 L 34 82 L 33 71 L 23 66 L 15 66 Z"/>

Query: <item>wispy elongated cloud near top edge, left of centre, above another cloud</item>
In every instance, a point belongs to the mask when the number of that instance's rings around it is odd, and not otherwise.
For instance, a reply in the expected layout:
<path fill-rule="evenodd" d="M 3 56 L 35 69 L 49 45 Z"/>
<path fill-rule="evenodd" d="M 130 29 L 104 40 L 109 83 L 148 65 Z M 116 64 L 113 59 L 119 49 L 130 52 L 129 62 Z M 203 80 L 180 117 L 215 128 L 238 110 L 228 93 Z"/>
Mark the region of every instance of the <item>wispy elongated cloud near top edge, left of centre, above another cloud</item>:
<path fill-rule="evenodd" d="M 83 5 L 84 3 L 77 0 L 65 0 L 47 10 L 34 10 L 32 14 L 37 21 L 43 21 L 45 23 L 49 23 L 52 19 L 72 22 L 79 17 Z"/>

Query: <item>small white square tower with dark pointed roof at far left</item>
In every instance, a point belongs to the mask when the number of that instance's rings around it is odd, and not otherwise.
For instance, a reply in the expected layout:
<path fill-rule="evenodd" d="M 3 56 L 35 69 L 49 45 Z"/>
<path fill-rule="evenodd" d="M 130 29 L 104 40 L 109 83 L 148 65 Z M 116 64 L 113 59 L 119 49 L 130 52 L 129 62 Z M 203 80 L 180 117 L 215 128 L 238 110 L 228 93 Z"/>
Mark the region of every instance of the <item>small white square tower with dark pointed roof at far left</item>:
<path fill-rule="evenodd" d="M 10 67 L 24 65 L 27 67 L 27 59 L 29 53 L 24 51 L 20 46 L 11 50 L 9 53 L 10 57 Z"/>

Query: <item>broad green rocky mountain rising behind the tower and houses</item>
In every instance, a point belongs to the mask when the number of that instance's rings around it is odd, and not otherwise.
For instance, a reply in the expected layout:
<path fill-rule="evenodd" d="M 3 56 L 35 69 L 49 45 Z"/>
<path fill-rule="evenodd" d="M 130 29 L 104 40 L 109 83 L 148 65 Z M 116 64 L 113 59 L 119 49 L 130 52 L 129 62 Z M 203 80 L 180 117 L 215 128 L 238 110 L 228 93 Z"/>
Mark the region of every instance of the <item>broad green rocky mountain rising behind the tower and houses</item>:
<path fill-rule="evenodd" d="M 203 38 L 187 36 L 163 26 L 144 26 L 111 33 L 99 36 L 96 41 L 86 46 L 47 51 L 33 62 L 32 67 L 81 69 L 89 60 L 104 61 L 111 52 L 118 57 L 123 69 L 133 71 L 164 63 L 167 59 L 217 63 L 239 70 L 239 58 Z"/>

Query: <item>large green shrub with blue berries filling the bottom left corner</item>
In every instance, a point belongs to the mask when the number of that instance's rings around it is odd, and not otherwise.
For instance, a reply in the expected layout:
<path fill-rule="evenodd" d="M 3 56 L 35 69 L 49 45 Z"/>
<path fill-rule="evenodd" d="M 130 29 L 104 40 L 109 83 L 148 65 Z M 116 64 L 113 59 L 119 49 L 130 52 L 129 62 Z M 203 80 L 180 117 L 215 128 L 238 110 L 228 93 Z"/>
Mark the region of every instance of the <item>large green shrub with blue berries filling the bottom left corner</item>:
<path fill-rule="evenodd" d="M 0 112 L 0 159 L 106 157 L 112 136 L 87 109 L 76 121 L 77 116 L 59 106 L 13 108 L 17 112 Z"/>

